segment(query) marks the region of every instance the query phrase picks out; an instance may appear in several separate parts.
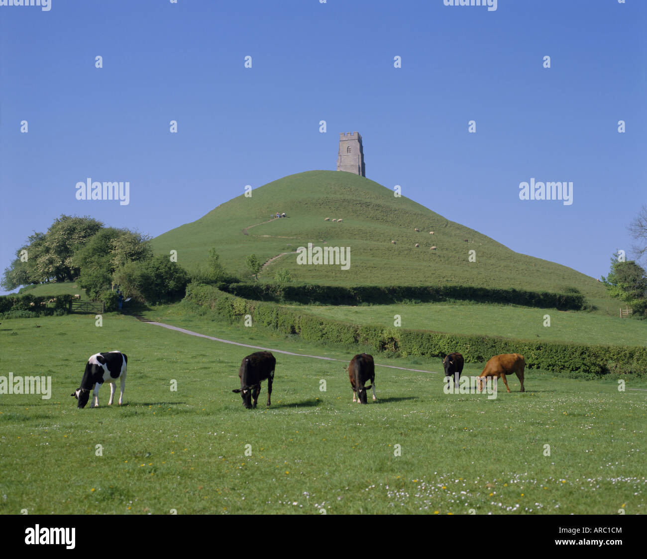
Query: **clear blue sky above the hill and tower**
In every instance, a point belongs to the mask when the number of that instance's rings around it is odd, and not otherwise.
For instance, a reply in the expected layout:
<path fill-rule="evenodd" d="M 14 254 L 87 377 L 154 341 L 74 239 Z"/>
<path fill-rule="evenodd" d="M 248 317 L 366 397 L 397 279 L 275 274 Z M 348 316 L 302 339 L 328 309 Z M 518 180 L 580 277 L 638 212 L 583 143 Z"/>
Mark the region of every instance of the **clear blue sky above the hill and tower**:
<path fill-rule="evenodd" d="M 247 184 L 334 170 L 338 133 L 359 131 L 369 179 L 606 275 L 647 203 L 646 16 L 643 0 L 0 6 L 0 269 L 60 214 L 157 236 Z M 88 177 L 129 181 L 129 204 L 78 201 Z M 531 178 L 572 181 L 573 204 L 521 201 Z"/>

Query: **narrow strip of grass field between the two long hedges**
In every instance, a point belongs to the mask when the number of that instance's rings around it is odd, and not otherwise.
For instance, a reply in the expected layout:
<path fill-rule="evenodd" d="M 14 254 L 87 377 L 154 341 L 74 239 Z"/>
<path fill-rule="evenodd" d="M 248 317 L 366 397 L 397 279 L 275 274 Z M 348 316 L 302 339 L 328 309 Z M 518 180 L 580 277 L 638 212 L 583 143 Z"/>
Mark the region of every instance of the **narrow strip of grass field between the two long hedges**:
<path fill-rule="evenodd" d="M 595 312 L 533 309 L 515 305 L 457 303 L 397 303 L 395 305 L 281 305 L 341 322 L 393 327 L 395 315 L 401 327 L 411 330 L 487 334 L 516 340 L 542 340 L 595 345 L 647 345 L 647 322 Z M 544 326 L 545 315 L 550 326 Z"/>

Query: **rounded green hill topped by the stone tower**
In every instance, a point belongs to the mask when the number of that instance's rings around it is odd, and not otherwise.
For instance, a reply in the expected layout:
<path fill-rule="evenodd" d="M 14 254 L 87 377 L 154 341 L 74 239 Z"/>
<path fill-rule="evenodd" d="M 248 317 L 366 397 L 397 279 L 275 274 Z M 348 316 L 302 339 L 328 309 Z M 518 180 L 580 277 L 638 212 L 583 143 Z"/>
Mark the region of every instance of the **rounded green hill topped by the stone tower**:
<path fill-rule="evenodd" d="M 276 212 L 287 218 L 269 221 Z M 153 248 L 157 254 L 177 250 L 179 263 L 192 269 L 216 247 L 223 265 L 241 272 L 248 254 L 267 261 L 307 243 L 351 247 L 350 269 L 298 265 L 296 255 L 287 254 L 260 278 L 271 280 L 285 267 L 295 281 L 323 285 L 454 284 L 553 292 L 575 287 L 603 312 L 618 306 L 589 276 L 514 252 L 404 196 L 394 197 L 377 182 L 340 171 L 307 171 L 270 182 L 251 197 L 240 195 L 156 237 Z M 476 252 L 475 262 L 468 261 L 470 250 Z"/>

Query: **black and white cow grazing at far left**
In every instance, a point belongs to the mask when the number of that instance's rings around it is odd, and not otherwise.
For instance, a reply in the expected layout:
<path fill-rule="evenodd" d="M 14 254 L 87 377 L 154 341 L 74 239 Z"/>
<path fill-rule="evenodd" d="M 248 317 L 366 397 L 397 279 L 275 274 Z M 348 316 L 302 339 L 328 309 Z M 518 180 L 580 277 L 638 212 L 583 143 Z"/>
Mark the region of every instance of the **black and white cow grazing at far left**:
<path fill-rule="evenodd" d="M 91 408 L 99 406 L 99 388 L 104 382 L 110 383 L 110 401 L 113 403 L 115 397 L 115 382 L 117 378 L 121 379 L 121 394 L 119 396 L 119 405 L 121 406 L 124 399 L 124 388 L 126 388 L 126 364 L 128 358 L 125 353 L 119 351 L 109 351 L 108 353 L 95 353 L 85 364 L 85 372 L 81 379 L 81 386 L 71 393 L 79 400 L 78 408 L 85 408 L 87 400 L 90 397 L 90 391 L 94 389 L 94 397 L 90 402 Z"/>

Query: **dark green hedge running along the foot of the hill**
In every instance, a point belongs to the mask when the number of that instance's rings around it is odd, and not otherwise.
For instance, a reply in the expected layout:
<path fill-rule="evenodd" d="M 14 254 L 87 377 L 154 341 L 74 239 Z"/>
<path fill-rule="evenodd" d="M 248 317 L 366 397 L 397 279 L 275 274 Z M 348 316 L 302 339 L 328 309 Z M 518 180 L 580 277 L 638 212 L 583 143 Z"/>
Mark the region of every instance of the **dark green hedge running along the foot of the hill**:
<path fill-rule="evenodd" d="M 524 307 L 580 311 L 586 299 L 577 290 L 568 293 L 496 289 L 465 285 L 393 286 L 360 285 L 278 285 L 276 283 L 218 283 L 223 291 L 256 301 L 320 302 L 327 305 L 356 305 L 358 303 L 400 303 L 406 300 L 446 301 L 468 300 L 483 303 L 509 303 Z"/>

